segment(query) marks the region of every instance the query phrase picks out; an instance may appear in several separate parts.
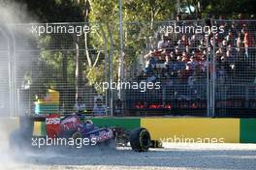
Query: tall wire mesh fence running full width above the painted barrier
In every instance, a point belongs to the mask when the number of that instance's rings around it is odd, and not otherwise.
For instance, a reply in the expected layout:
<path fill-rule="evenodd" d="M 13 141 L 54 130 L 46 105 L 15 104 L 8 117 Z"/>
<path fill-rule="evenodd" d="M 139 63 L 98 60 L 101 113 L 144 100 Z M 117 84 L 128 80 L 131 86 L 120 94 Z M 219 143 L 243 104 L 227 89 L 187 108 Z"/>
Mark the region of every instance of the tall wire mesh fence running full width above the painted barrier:
<path fill-rule="evenodd" d="M 256 21 L 1 26 L 1 115 L 255 117 Z M 7 33 L 8 32 L 8 33 Z"/>

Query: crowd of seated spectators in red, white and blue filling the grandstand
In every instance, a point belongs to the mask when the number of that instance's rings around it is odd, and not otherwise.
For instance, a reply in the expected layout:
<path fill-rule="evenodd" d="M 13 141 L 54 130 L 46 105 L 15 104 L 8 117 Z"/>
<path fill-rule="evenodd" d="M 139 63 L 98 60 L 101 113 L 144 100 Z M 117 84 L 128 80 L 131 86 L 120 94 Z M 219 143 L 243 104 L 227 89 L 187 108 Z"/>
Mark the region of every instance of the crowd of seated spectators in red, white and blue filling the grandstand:
<path fill-rule="evenodd" d="M 219 84 L 253 82 L 256 77 L 256 21 L 245 20 L 241 14 L 239 17 L 237 20 L 224 20 L 222 16 L 180 20 L 177 16 L 174 21 L 177 25 L 216 25 L 224 32 L 170 34 L 156 31 L 156 41 L 144 55 L 145 67 L 139 79 L 160 81 L 167 86 L 193 87 L 206 84 L 207 72 L 212 72 Z"/>

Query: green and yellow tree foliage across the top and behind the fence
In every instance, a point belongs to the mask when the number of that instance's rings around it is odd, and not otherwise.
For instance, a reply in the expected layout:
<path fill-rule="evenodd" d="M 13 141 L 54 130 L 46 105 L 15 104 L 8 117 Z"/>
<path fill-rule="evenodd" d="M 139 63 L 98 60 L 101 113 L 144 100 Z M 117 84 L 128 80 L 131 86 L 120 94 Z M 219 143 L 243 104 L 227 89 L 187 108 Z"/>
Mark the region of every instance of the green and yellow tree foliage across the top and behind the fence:
<path fill-rule="evenodd" d="M 68 84 L 82 86 L 105 81 L 105 71 L 112 67 L 113 79 L 117 78 L 120 56 L 119 6 L 117 0 L 12 0 L 25 6 L 25 10 L 38 22 L 81 22 L 94 34 L 44 35 L 39 38 L 40 62 L 38 83 L 55 86 L 61 90 Z M 170 20 L 176 14 L 176 0 L 125 0 L 123 1 L 123 38 L 125 69 L 144 52 L 148 37 L 153 35 L 158 21 Z M 180 8 L 191 14 L 207 16 L 224 14 L 254 14 L 252 0 L 180 0 Z M 192 12 L 192 8 L 195 11 Z M 105 58 L 107 54 L 107 58 Z M 112 66 L 109 65 L 112 57 Z M 107 59 L 107 60 L 105 60 Z M 58 73 L 53 73 L 57 71 Z M 50 74 L 50 76 L 48 76 Z M 107 73 L 109 75 L 110 72 Z M 42 78 L 44 77 L 44 78 Z M 79 87 L 79 88 L 80 88 Z M 77 89 L 77 91 L 80 91 Z M 102 90 L 99 90 L 102 92 Z M 78 93 L 78 92 L 77 92 Z"/>

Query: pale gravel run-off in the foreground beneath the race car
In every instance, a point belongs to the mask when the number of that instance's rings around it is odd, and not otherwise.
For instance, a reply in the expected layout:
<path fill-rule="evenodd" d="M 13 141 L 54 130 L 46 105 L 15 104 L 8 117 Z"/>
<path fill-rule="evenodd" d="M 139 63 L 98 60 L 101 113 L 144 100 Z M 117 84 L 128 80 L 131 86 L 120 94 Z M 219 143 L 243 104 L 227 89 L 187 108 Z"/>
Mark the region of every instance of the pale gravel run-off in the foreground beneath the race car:
<path fill-rule="evenodd" d="M 1 151 L 2 170 L 256 169 L 256 144 L 164 144 L 135 153 L 129 148 L 68 151 Z"/>

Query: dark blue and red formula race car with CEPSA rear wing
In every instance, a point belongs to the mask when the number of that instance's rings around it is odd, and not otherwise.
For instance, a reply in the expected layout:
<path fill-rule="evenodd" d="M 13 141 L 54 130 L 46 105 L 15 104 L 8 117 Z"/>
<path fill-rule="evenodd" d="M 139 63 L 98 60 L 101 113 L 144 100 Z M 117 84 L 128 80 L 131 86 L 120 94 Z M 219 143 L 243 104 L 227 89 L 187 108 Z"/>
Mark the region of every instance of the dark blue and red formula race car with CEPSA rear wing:
<path fill-rule="evenodd" d="M 50 115 L 46 117 L 46 129 L 48 139 L 73 139 L 77 141 L 86 141 L 86 146 L 109 146 L 114 143 L 115 146 L 130 146 L 135 152 L 146 152 L 151 148 L 160 148 L 161 143 L 151 141 L 149 131 L 146 128 L 135 128 L 126 130 L 125 128 L 98 128 L 93 125 L 89 119 L 80 118 L 79 115 L 70 115 L 60 118 L 59 115 Z M 29 132 L 24 128 L 15 131 L 11 136 L 11 145 L 23 145 L 28 142 Z M 30 137 L 31 139 L 31 137 Z M 26 142 L 25 142 L 26 141 Z M 31 142 L 28 142 L 31 144 Z M 77 145 L 77 143 L 75 143 Z"/>

